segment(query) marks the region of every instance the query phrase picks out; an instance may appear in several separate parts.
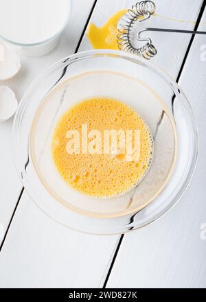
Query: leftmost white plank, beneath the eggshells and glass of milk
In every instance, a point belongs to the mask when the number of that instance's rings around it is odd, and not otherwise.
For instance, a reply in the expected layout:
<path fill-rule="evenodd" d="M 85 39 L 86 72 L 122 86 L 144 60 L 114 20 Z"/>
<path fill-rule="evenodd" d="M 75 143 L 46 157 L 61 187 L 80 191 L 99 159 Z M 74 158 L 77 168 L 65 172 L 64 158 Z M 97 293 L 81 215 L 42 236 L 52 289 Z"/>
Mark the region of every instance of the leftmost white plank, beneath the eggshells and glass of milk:
<path fill-rule="evenodd" d="M 11 80 L 1 82 L 2 85 L 8 85 L 14 90 L 18 100 L 21 100 L 27 87 L 30 86 L 32 81 L 41 72 L 54 62 L 75 51 L 93 2 L 94 0 L 73 1 L 71 20 L 69 21 L 64 34 L 60 38 L 58 46 L 50 54 L 38 58 L 28 58 L 26 56 L 21 56 L 21 53 L 19 53 L 22 67 L 18 75 Z M 12 212 L 14 211 L 14 207 L 22 189 L 21 182 L 19 181 L 12 161 L 11 134 L 12 119 L 0 125 L 0 223 L 3 224 L 4 233 L 8 227 Z"/>

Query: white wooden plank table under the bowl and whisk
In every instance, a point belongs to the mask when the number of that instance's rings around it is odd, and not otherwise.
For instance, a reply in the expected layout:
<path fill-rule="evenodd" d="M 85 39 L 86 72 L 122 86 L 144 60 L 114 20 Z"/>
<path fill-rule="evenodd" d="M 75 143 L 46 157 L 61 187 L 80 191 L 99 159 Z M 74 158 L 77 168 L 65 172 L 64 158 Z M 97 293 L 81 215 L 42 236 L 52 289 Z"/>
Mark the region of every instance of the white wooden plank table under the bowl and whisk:
<path fill-rule="evenodd" d="M 202 0 L 154 0 L 157 16 L 144 26 L 206 31 Z M 204 2 L 204 3 L 203 3 Z M 75 0 L 71 21 L 51 54 L 21 57 L 22 69 L 8 84 L 16 96 L 53 62 L 91 49 L 90 20 L 130 8 L 135 0 Z M 62 227 L 34 205 L 12 163 L 12 120 L 0 125 L 1 288 L 205 288 L 206 287 L 206 37 L 150 33 L 159 53 L 152 62 L 176 79 L 199 128 L 196 172 L 180 202 L 161 220 L 126 235 L 84 235 Z M 205 53 L 204 53 L 205 51 Z"/>

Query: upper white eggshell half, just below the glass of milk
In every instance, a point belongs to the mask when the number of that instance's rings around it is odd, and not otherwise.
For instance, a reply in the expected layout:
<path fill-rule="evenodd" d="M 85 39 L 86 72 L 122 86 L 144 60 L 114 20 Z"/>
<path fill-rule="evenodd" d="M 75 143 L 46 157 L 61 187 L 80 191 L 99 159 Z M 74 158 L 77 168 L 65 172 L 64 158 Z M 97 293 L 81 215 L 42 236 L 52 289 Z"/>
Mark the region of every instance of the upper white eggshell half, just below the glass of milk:
<path fill-rule="evenodd" d="M 8 80 L 18 73 L 21 63 L 14 52 L 5 43 L 0 43 L 0 80 Z"/>

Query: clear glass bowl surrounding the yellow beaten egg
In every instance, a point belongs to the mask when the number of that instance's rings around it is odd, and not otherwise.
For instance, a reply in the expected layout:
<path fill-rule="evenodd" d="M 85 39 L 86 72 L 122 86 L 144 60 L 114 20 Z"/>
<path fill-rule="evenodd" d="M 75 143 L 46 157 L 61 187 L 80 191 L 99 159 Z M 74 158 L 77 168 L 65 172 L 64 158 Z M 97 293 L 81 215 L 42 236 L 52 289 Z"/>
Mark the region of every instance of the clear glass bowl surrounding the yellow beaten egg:
<path fill-rule="evenodd" d="M 60 116 L 73 104 L 99 96 L 135 108 L 154 140 L 146 176 L 113 198 L 71 189 L 52 160 Z M 196 165 L 197 129 L 185 95 L 164 71 L 122 51 L 84 51 L 57 62 L 27 90 L 14 118 L 12 150 L 25 189 L 51 218 L 86 233 L 124 233 L 157 220 L 179 200 Z"/>

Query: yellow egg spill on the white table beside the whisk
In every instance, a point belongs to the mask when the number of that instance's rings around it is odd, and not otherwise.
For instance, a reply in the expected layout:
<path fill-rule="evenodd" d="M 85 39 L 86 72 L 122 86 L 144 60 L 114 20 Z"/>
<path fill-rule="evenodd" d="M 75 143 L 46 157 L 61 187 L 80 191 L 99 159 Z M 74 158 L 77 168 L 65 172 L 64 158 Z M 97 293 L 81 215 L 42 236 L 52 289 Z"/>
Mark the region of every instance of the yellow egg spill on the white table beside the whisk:
<path fill-rule="evenodd" d="M 87 38 L 94 49 L 119 49 L 117 25 L 127 11 L 116 12 L 102 27 L 97 27 L 94 23 L 89 24 Z"/>

